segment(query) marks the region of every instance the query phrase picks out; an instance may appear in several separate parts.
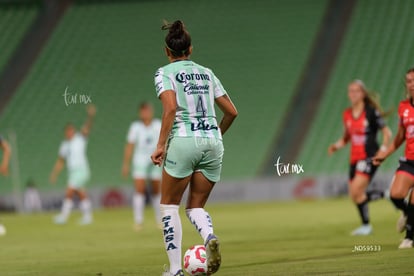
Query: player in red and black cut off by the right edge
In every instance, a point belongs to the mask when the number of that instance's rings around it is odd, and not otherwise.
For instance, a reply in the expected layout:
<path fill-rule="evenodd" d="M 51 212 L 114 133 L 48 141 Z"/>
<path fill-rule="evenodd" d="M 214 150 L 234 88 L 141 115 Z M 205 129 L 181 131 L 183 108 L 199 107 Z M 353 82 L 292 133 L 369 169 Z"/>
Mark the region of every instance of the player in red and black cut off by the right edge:
<path fill-rule="evenodd" d="M 398 132 L 386 152 L 379 152 L 374 157 L 374 164 L 379 165 L 389 155 L 396 151 L 405 141 L 405 156 L 400 158 L 398 167 L 391 184 L 391 200 L 394 205 L 402 211 L 398 220 L 397 230 L 404 229 L 405 239 L 399 248 L 412 248 L 414 236 L 414 198 L 409 196 L 408 202 L 404 201 L 410 190 L 414 187 L 414 68 L 407 71 L 405 75 L 405 86 L 407 99 L 400 102 L 398 116 L 400 124 Z"/>

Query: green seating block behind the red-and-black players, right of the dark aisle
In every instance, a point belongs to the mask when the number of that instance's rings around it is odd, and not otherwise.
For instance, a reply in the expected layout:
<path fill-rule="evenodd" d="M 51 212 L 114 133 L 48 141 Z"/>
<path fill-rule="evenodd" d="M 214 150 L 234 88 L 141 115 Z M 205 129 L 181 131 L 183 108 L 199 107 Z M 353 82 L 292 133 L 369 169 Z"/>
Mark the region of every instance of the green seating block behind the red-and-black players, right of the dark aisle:
<path fill-rule="evenodd" d="M 342 135 L 342 111 L 349 106 L 347 86 L 354 79 L 363 80 L 379 95 L 385 111 L 394 111 L 386 120 L 396 133 L 398 103 L 405 98 L 404 75 L 413 66 L 414 36 L 409 35 L 413 9 L 414 2 L 405 0 L 357 2 L 332 77 L 297 160 L 307 174 L 347 171 L 349 146 L 330 158 L 327 147 Z M 396 169 L 402 149 L 381 166 L 381 171 Z"/>

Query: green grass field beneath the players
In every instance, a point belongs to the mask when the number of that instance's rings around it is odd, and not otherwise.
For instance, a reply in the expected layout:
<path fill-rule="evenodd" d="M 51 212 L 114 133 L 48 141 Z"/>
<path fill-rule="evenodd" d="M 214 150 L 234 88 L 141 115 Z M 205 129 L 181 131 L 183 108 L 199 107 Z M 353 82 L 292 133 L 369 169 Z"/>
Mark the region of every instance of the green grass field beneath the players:
<path fill-rule="evenodd" d="M 385 200 L 370 205 L 374 234 L 352 237 L 359 224 L 348 199 L 306 202 L 212 204 L 223 263 L 216 275 L 411 274 L 414 250 L 398 250 L 399 214 Z M 161 275 L 167 257 L 151 209 L 141 232 L 129 209 L 99 210 L 90 226 L 74 213 L 65 226 L 53 214 L 1 215 L 0 275 Z M 182 215 L 183 246 L 200 244 Z M 380 246 L 352 252 L 354 246 Z"/>

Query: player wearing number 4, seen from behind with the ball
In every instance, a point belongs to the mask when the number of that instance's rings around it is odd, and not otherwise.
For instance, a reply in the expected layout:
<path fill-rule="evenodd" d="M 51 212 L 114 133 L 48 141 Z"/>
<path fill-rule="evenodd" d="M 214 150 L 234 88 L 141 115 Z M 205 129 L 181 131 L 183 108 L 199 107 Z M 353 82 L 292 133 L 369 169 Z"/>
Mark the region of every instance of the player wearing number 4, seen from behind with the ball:
<path fill-rule="evenodd" d="M 162 29 L 168 30 L 165 51 L 170 64 L 155 74 L 163 114 L 157 148 L 151 158 L 154 164 L 163 164 L 161 215 L 170 262 L 169 271 L 163 275 L 184 275 L 178 209 L 189 183 L 186 214 L 203 238 L 208 274 L 212 274 L 220 267 L 221 255 L 204 205 L 214 184 L 220 180 L 222 134 L 233 123 L 237 110 L 213 72 L 189 60 L 193 48 L 183 22 L 177 20 Z M 224 113 L 220 124 L 217 124 L 214 103 Z"/>

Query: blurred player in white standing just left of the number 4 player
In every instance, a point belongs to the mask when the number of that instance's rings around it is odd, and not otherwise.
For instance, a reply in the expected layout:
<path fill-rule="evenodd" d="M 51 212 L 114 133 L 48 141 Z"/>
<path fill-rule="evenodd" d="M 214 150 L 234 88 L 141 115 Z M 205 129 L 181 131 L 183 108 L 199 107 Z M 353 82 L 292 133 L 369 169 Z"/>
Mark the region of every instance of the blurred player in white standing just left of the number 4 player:
<path fill-rule="evenodd" d="M 135 184 L 135 194 L 132 198 L 135 229 L 140 230 L 144 221 L 146 181 L 151 180 L 151 202 L 155 211 L 158 224 L 161 223 L 160 215 L 160 180 L 162 170 L 151 161 L 161 129 L 161 121 L 154 119 L 154 110 L 150 103 L 144 102 L 139 106 L 139 121 L 131 124 L 127 144 L 125 145 L 122 174 L 129 175 L 132 158 L 132 178 Z"/>

